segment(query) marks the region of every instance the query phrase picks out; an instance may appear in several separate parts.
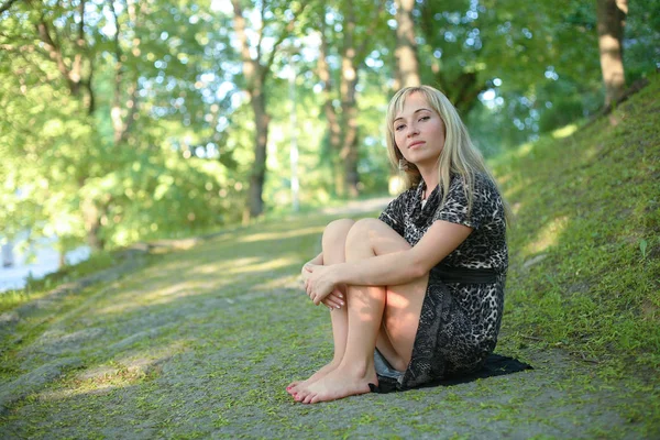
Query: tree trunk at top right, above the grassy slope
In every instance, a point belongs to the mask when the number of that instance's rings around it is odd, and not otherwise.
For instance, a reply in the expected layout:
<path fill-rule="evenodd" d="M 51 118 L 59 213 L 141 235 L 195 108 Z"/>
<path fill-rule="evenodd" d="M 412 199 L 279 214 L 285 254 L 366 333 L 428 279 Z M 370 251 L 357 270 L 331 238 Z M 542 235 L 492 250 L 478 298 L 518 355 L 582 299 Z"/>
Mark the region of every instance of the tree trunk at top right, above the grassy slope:
<path fill-rule="evenodd" d="M 598 48 L 605 82 L 605 106 L 616 102 L 626 86 L 622 40 L 627 13 L 627 0 L 597 0 Z"/>

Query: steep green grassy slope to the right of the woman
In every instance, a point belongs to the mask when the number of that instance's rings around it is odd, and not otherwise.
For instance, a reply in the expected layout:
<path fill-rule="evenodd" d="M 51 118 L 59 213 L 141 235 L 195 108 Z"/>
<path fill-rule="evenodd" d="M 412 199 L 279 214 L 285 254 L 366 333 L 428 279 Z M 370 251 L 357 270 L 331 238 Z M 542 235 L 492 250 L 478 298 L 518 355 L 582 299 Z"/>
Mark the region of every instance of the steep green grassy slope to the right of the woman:
<path fill-rule="evenodd" d="M 610 117 L 496 164 L 517 213 L 505 328 L 521 343 L 660 370 L 658 96 L 654 78 Z"/>

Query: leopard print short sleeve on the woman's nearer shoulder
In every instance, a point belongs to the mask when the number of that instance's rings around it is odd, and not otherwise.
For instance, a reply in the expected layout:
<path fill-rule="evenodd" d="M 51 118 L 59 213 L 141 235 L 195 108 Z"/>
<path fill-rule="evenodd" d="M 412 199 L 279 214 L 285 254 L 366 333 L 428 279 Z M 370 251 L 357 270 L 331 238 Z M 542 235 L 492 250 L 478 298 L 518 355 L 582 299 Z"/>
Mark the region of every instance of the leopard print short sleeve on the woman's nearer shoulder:
<path fill-rule="evenodd" d="M 480 175 L 475 176 L 472 209 L 468 212 L 465 179 L 461 176 L 454 176 L 449 185 L 447 200 L 444 201 L 444 205 L 436 211 L 433 221 L 443 220 L 450 223 L 458 223 L 469 228 L 479 229 L 484 219 L 484 191 L 487 190 L 486 180 L 486 177 Z"/>

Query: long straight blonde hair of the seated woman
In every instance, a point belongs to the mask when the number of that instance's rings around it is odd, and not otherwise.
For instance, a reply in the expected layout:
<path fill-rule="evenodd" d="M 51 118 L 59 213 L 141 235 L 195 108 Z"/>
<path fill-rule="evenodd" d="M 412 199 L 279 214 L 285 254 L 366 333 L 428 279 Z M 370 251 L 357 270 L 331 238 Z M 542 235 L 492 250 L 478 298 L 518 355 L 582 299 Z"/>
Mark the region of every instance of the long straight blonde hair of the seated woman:
<path fill-rule="evenodd" d="M 438 158 L 438 173 L 439 173 L 439 185 L 442 189 L 442 200 L 440 207 L 442 207 L 447 200 L 449 193 L 449 185 L 451 183 L 452 175 L 460 175 L 465 180 L 465 197 L 468 198 L 468 212 L 472 210 L 472 200 L 474 196 L 474 176 L 476 173 L 484 174 L 487 176 L 494 185 L 496 185 L 493 175 L 486 168 L 483 156 L 476 150 L 468 129 L 457 109 L 447 99 L 447 97 L 440 91 L 430 86 L 415 86 L 405 87 L 396 92 L 396 95 L 389 101 L 387 107 L 387 153 L 389 161 L 397 167 L 404 155 L 396 145 L 394 138 L 394 119 L 404 110 L 406 99 L 413 94 L 421 94 L 428 105 L 440 116 L 444 123 L 444 147 L 440 157 Z M 418 185 L 421 182 L 421 174 L 415 164 L 408 163 L 407 169 L 405 169 L 406 188 L 410 188 Z M 505 217 L 507 223 L 509 222 L 512 215 L 508 206 L 504 201 Z"/>

